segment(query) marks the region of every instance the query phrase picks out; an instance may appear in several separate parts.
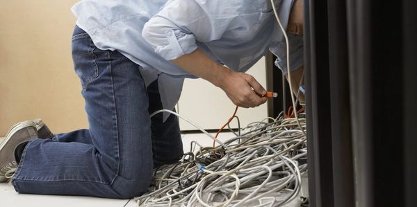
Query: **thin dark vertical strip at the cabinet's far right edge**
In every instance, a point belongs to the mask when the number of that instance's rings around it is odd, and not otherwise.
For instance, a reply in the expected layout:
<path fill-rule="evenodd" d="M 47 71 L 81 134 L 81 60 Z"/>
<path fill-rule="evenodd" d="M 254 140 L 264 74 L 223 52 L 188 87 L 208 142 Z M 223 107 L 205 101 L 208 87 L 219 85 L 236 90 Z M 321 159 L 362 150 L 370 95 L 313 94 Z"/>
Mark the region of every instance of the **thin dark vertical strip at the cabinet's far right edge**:
<path fill-rule="evenodd" d="M 404 186 L 405 205 L 417 204 L 417 1 L 404 1 Z"/>

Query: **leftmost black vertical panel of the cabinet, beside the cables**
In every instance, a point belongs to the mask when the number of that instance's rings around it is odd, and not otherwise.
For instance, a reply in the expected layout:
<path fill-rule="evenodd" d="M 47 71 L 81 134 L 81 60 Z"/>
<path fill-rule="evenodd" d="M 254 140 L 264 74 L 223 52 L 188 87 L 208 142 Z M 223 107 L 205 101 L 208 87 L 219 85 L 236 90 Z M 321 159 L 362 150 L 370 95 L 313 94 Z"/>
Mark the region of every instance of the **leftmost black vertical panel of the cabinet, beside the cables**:
<path fill-rule="evenodd" d="M 334 206 L 327 3 L 311 0 L 304 5 L 308 8 L 308 15 L 304 16 L 304 67 L 307 88 L 309 204 Z"/>

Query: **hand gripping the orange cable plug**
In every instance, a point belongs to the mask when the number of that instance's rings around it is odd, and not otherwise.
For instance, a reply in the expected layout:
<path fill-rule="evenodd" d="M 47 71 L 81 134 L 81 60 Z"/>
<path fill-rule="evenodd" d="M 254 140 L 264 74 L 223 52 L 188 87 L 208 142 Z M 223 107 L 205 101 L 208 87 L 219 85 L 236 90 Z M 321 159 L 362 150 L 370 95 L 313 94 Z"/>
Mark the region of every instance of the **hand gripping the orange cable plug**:
<path fill-rule="evenodd" d="M 257 107 L 267 100 L 266 97 L 263 97 L 266 91 L 261 84 L 252 75 L 245 73 L 228 71 L 222 78 L 219 87 L 238 107 Z"/>

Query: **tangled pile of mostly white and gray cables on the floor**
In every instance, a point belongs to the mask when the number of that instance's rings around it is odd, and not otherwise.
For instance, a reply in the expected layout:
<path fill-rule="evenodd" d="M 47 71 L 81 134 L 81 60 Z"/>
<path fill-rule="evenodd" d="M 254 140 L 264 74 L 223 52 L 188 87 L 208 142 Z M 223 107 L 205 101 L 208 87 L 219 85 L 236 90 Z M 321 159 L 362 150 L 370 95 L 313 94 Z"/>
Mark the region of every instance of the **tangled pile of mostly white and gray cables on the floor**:
<path fill-rule="evenodd" d="M 149 192 L 135 198 L 138 205 L 288 204 L 300 192 L 307 169 L 306 120 L 300 115 L 299 123 L 284 116 L 252 123 L 215 148 L 192 142 L 179 163 L 155 170 Z"/>

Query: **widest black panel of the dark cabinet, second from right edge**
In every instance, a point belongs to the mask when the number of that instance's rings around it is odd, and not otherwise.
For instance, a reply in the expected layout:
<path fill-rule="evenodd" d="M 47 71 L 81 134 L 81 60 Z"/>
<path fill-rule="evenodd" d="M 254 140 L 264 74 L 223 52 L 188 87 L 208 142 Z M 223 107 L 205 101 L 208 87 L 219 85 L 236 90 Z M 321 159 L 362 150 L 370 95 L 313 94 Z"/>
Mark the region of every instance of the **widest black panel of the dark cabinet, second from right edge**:
<path fill-rule="evenodd" d="M 402 183 L 393 179 L 403 173 L 402 6 L 398 1 L 356 3 L 350 74 L 357 200 L 359 206 L 403 206 Z"/>

